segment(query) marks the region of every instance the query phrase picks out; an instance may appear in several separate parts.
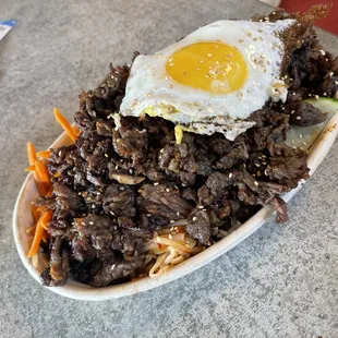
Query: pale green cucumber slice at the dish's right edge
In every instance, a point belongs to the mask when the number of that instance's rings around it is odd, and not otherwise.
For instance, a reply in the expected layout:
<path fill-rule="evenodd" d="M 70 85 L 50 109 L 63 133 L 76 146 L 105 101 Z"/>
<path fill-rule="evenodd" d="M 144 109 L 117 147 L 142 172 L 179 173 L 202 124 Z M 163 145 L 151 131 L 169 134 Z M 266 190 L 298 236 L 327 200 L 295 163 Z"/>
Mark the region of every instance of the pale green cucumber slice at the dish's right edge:
<path fill-rule="evenodd" d="M 307 152 L 321 134 L 327 121 L 334 116 L 334 113 L 338 112 L 338 100 L 328 97 L 319 97 L 319 99 L 309 98 L 305 102 L 313 105 L 323 112 L 327 112 L 327 118 L 323 123 L 315 125 L 291 125 L 290 130 L 287 132 L 286 144 L 290 147 L 299 147 L 302 150 Z"/>

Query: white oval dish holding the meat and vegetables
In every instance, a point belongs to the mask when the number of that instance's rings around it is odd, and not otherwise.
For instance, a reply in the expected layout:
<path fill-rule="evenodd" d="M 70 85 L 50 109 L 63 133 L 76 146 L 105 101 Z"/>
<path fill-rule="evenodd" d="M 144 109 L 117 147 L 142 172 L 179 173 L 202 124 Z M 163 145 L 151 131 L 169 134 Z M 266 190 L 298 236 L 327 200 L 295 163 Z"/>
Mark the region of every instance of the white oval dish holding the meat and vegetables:
<path fill-rule="evenodd" d="M 322 133 L 318 135 L 314 144 L 309 149 L 307 165 L 310 168 L 310 174 L 313 174 L 318 165 L 323 161 L 327 152 L 331 147 L 336 135 L 338 133 L 338 113 L 334 114 L 330 120 L 324 126 Z M 59 147 L 70 143 L 68 136 L 63 133 L 51 147 Z M 295 193 L 301 189 L 300 183 L 298 188 L 283 194 L 281 197 L 289 202 Z M 32 265 L 31 259 L 27 258 L 28 244 L 32 242 L 32 236 L 26 233 L 26 229 L 33 226 L 33 217 L 31 214 L 32 201 L 35 201 L 38 196 L 36 186 L 34 183 L 33 174 L 29 173 L 26 178 L 16 204 L 13 216 L 13 232 L 14 240 L 17 248 L 19 255 L 27 268 L 29 274 L 41 283 L 39 279 L 38 270 Z M 155 278 L 144 277 L 135 281 L 130 281 L 121 285 L 109 286 L 105 288 L 92 288 L 86 285 L 80 283 L 75 280 L 70 279 L 65 286 L 62 287 L 50 287 L 49 290 L 72 299 L 86 300 L 86 301 L 102 301 L 124 295 L 134 294 L 137 292 L 146 291 L 169 281 L 178 279 L 184 275 L 188 275 L 203 265 L 219 257 L 230 249 L 246 239 L 250 234 L 255 232 L 262 227 L 271 216 L 274 210 L 265 206 L 251 217 L 241 227 L 236 229 L 233 232 L 221 239 L 219 242 L 213 244 L 205 251 L 197 255 L 184 261 L 183 263 L 171 268 L 167 274 L 160 275 Z"/>

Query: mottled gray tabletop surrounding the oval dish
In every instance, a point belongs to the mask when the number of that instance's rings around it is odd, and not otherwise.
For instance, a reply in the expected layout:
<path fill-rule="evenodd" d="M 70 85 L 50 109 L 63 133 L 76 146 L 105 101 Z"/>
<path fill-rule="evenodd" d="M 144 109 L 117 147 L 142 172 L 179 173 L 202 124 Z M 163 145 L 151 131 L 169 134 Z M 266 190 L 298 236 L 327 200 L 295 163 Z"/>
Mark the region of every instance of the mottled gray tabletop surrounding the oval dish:
<path fill-rule="evenodd" d="M 174 282 L 107 302 L 61 298 L 35 282 L 16 254 L 12 210 L 25 179 L 25 143 L 59 135 L 81 88 L 108 63 L 155 52 L 200 25 L 249 19 L 256 1 L 1 0 L 17 25 L 0 43 L 0 337 L 338 337 L 338 143 L 289 204 L 228 254 Z M 321 33 L 338 52 L 338 39 Z"/>

